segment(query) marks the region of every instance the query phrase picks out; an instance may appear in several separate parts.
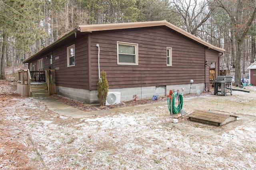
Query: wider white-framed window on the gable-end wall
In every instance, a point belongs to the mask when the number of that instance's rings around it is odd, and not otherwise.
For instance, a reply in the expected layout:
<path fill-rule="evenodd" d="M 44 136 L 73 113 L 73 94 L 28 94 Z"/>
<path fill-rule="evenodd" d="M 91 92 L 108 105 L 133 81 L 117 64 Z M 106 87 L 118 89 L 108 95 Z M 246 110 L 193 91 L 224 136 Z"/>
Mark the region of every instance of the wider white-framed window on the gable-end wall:
<path fill-rule="evenodd" d="M 138 65 L 138 44 L 117 42 L 117 64 Z"/>

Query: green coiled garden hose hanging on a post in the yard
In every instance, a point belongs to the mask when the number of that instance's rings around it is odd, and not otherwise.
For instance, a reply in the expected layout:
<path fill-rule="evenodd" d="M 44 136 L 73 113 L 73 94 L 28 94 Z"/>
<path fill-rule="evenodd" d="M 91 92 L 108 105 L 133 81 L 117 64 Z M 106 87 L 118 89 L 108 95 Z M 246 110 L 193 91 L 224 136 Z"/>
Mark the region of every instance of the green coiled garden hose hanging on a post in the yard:
<path fill-rule="evenodd" d="M 178 104 L 177 107 L 175 107 L 175 98 L 176 97 L 177 97 L 177 99 L 178 98 L 180 99 L 180 103 Z M 168 104 L 168 109 L 169 109 L 170 113 L 173 113 L 173 114 L 180 113 L 180 109 L 182 109 L 182 106 L 183 106 L 183 96 L 182 96 L 182 94 L 179 93 L 179 95 L 178 95 L 177 92 L 174 92 L 172 94 L 172 100 L 171 100 L 170 97 L 167 98 L 167 104 Z M 172 108 L 172 112 L 171 112 L 171 108 Z"/>

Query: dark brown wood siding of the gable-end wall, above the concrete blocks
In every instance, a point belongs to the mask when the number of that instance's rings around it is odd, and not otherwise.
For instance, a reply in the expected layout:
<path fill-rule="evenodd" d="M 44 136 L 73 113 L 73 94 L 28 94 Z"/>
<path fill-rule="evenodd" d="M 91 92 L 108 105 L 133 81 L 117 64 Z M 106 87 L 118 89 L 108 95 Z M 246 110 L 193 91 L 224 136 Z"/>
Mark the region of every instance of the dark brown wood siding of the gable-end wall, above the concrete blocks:
<path fill-rule="evenodd" d="M 138 65 L 117 64 L 117 41 L 138 43 Z M 205 47 L 164 26 L 98 31 L 91 34 L 92 90 L 98 82 L 98 49 L 100 70 L 105 70 L 109 88 L 164 86 L 205 82 Z M 172 47 L 172 66 L 166 66 L 166 47 Z M 218 60 L 218 53 L 211 53 Z M 145 76 L 146 75 L 146 76 Z"/>

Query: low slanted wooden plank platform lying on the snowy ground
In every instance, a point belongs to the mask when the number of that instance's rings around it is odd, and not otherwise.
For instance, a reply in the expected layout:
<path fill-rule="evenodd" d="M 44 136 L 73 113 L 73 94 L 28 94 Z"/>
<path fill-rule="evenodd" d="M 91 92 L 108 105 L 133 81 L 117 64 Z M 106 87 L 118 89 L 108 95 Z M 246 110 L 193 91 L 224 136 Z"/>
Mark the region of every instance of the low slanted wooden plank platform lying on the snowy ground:
<path fill-rule="evenodd" d="M 224 113 L 215 113 L 210 111 L 195 110 L 188 115 L 190 120 L 199 121 L 202 123 L 208 123 L 211 125 L 226 125 L 232 121 L 235 121 L 237 116 L 228 115 Z"/>

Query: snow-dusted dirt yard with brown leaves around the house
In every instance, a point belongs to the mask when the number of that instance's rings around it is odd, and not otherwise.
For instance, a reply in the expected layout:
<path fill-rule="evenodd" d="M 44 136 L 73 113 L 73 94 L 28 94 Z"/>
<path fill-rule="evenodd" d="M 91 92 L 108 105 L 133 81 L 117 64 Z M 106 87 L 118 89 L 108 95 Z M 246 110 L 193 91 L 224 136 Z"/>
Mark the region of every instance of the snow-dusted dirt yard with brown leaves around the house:
<path fill-rule="evenodd" d="M 100 107 L 51 96 L 85 111 L 163 102 L 82 119 L 65 117 L 19 96 L 14 79 L 0 80 L 1 169 L 256 169 L 254 86 L 247 87 L 250 93 L 233 91 L 232 96 L 184 96 L 186 113 L 201 109 L 238 116 L 218 127 L 186 117 L 172 123 L 166 98 Z"/>

